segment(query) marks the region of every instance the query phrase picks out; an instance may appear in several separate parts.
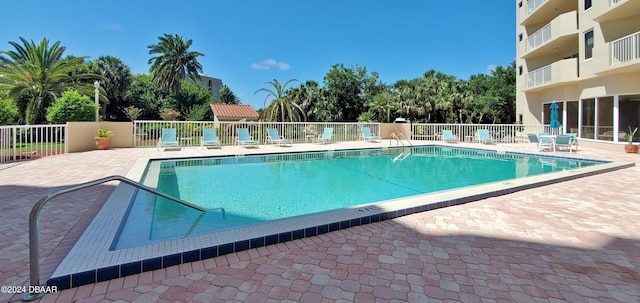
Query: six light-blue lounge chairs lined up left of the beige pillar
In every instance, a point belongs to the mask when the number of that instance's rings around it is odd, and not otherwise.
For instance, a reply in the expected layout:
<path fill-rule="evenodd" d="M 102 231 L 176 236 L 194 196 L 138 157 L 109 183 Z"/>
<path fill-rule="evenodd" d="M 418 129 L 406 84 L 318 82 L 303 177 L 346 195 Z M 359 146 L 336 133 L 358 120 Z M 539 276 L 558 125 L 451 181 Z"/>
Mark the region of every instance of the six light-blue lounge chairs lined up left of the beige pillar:
<path fill-rule="evenodd" d="M 376 138 L 376 136 L 373 136 L 371 134 L 371 131 L 368 128 L 367 130 L 368 130 L 367 138 L 369 139 Z M 317 143 L 324 144 L 324 143 L 331 142 L 332 137 L 333 137 L 333 128 L 326 127 L 322 135 L 319 135 L 318 138 L 315 139 L 315 141 Z M 278 133 L 278 130 L 275 128 L 267 128 L 266 142 L 267 144 L 274 144 L 276 146 L 286 146 L 286 145 L 291 146 L 291 144 L 293 143 L 291 142 L 291 140 L 286 139 L 284 136 L 280 136 L 280 134 Z M 257 147 L 258 141 L 254 140 L 253 137 L 249 134 L 248 128 L 238 128 L 236 144 Z M 202 138 L 200 138 L 200 146 L 203 148 L 206 148 L 206 147 L 220 148 L 221 147 L 220 139 L 216 134 L 215 128 L 204 128 L 202 130 Z M 178 138 L 176 135 L 176 129 L 163 128 L 162 136 L 158 140 L 157 149 L 160 150 L 160 148 L 172 148 L 172 147 L 180 147 L 180 144 L 178 143 Z"/>

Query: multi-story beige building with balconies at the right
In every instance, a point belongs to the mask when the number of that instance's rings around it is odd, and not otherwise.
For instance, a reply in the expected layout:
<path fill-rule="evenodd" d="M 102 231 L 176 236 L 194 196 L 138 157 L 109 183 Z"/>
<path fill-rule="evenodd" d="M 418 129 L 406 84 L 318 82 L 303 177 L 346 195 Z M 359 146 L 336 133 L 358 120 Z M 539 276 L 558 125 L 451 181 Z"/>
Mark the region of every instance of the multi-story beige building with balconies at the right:
<path fill-rule="evenodd" d="M 516 113 L 593 142 L 640 125 L 640 0 L 516 0 Z M 640 141 L 640 131 L 634 140 Z"/>

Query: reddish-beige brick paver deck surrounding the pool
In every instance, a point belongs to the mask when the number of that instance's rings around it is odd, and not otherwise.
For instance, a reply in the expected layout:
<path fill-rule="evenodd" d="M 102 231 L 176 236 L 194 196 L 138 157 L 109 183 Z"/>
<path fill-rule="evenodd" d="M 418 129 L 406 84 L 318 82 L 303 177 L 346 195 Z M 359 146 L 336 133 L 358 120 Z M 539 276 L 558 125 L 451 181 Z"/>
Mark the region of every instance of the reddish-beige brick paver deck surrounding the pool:
<path fill-rule="evenodd" d="M 388 145 L 112 149 L 0 165 L 1 285 L 29 284 L 29 211 L 52 189 L 126 175 L 139 158 Z M 531 152 L 525 144 L 452 145 Z M 622 146 L 555 154 L 636 166 L 66 289 L 39 302 L 640 301 L 640 155 Z M 69 193 L 43 208 L 42 283 L 115 185 Z M 0 293 L 0 302 L 21 298 Z"/>

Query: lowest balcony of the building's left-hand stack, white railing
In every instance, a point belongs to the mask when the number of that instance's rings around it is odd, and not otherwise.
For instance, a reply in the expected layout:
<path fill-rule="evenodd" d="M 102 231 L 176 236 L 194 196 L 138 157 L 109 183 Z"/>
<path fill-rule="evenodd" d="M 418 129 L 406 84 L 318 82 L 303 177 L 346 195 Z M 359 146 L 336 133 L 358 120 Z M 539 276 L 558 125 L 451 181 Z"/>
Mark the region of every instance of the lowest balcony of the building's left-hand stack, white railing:
<path fill-rule="evenodd" d="M 525 92 L 538 91 L 577 81 L 578 59 L 563 59 L 528 73 Z"/>

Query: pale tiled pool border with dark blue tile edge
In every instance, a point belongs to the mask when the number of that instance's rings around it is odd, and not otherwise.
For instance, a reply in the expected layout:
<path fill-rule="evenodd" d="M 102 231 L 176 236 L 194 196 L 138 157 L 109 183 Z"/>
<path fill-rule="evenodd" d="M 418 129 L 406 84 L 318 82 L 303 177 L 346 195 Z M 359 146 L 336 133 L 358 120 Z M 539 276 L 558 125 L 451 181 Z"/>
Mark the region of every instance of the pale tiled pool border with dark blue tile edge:
<path fill-rule="evenodd" d="M 341 153 L 340 149 L 343 150 L 342 152 L 354 152 L 348 150 L 349 145 L 347 144 L 344 144 L 344 146 L 314 146 L 314 148 L 335 149 L 335 151 L 326 150 L 326 156 L 334 158 Z M 430 146 L 416 147 L 414 149 L 415 153 L 409 156 L 407 156 L 406 153 L 402 153 L 401 149 L 389 148 L 390 150 L 398 150 L 400 152 L 398 156 L 394 157 L 395 162 L 393 162 L 394 159 L 392 159 L 391 163 L 396 164 L 399 161 L 407 161 L 412 157 L 433 157 L 432 155 L 423 155 L 423 153 L 419 152 L 424 148 L 430 148 Z M 370 149 L 369 151 L 375 152 L 378 150 L 380 149 Z M 271 160 L 290 160 L 291 158 L 307 157 L 307 155 L 325 154 L 282 153 L 282 151 L 286 151 L 286 149 L 268 150 L 265 148 L 242 150 L 244 154 L 253 153 L 255 156 L 270 156 L 268 159 Z M 591 160 L 558 156 L 544 157 L 541 158 L 541 160 L 534 161 L 533 158 L 536 155 L 504 152 L 501 150 L 444 148 L 442 151 L 448 153 L 448 155 L 445 155 L 446 157 L 453 157 L 453 154 L 456 152 L 467 153 L 472 155 L 471 157 L 495 155 L 498 158 L 509 158 L 525 156 L 529 157 L 530 160 L 528 162 L 536 162 L 542 170 L 555 168 L 557 171 L 525 178 L 465 186 L 461 189 L 441 190 L 434 193 L 396 198 L 359 205 L 357 207 L 346 207 L 330 211 L 321 211 L 310 215 L 300 215 L 286 219 L 254 223 L 216 232 L 206 232 L 165 241 L 155 241 L 147 245 L 114 249 L 114 239 L 117 239 L 118 235 L 122 233 L 122 225 L 120 222 L 123 222 L 130 213 L 131 201 L 133 201 L 132 197 L 136 195 L 135 188 L 126 184 L 120 184 L 115 188 L 98 214 L 93 218 L 91 224 L 84 230 L 82 236 L 47 280 L 47 285 L 55 285 L 58 289 L 78 287 L 141 272 L 167 268 L 181 263 L 194 262 L 247 249 L 312 237 L 362 224 L 394 219 L 417 212 L 459 205 L 509 194 L 523 189 L 632 167 L 634 165 L 633 163 L 594 161 L 600 164 L 580 166 L 576 164 L 581 163 L 583 160 L 587 162 Z M 200 160 L 189 159 L 187 157 L 182 158 L 189 161 Z M 222 160 L 222 158 L 223 157 L 215 157 L 207 158 L 206 160 Z M 226 161 L 246 161 L 252 159 L 253 156 L 247 155 L 244 157 L 243 155 L 235 156 L 231 154 L 224 158 L 229 159 Z M 143 180 L 143 175 L 149 167 L 149 163 L 153 162 L 152 160 L 170 159 L 138 159 L 126 177 L 132 180 Z M 563 160 L 569 160 L 568 163 L 571 167 L 575 167 L 575 169 L 566 169 L 568 167 L 562 164 L 565 163 L 562 162 Z M 524 162 L 521 161 L 516 165 L 516 171 L 519 172 L 522 167 L 524 167 Z M 150 180 L 150 182 L 153 182 L 153 180 Z M 155 182 L 157 182 L 157 180 Z M 147 235 L 149 233 L 149 226 L 150 225 L 146 225 L 145 227 L 147 229 L 147 231 L 145 231 Z"/>

